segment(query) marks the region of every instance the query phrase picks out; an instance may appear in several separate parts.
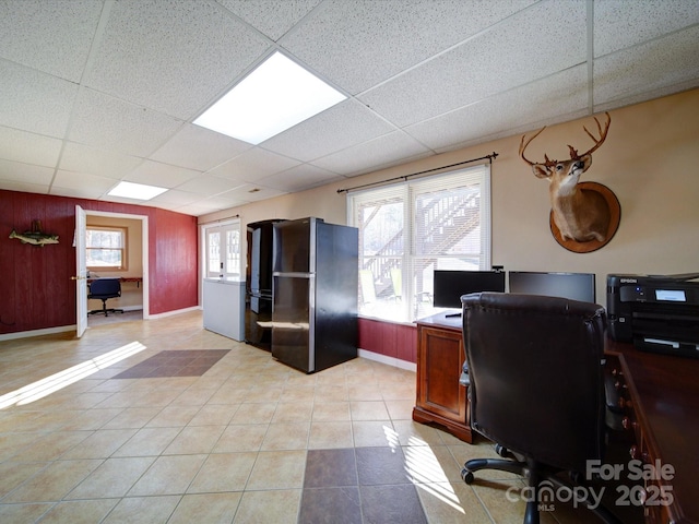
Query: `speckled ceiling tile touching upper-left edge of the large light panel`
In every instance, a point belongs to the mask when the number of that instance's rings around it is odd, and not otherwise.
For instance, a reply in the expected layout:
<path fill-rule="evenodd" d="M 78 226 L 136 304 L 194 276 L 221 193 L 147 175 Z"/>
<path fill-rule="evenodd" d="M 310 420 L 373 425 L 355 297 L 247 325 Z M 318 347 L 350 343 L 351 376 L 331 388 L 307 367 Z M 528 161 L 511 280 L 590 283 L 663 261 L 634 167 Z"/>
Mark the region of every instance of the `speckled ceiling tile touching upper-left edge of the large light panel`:
<path fill-rule="evenodd" d="M 121 0 L 86 85 L 188 120 L 269 46 L 215 3 Z"/>

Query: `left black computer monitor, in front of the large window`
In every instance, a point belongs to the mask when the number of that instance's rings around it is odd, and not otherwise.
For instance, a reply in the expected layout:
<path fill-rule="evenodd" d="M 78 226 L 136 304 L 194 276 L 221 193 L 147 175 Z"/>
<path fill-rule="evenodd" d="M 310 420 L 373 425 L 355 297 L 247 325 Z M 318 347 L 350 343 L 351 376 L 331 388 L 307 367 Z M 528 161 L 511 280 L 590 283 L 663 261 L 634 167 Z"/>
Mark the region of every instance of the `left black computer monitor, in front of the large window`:
<path fill-rule="evenodd" d="M 461 309 L 461 296 L 478 291 L 505 293 L 505 272 L 435 270 L 436 308 Z"/>

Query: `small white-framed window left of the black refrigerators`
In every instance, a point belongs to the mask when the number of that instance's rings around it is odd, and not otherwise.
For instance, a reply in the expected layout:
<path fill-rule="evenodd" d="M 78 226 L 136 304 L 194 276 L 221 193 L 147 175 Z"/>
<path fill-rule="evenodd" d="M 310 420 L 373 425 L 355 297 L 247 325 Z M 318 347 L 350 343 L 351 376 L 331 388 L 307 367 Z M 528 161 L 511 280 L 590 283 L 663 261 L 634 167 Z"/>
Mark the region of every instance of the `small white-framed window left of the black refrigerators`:
<path fill-rule="evenodd" d="M 240 223 L 204 228 L 204 276 L 240 277 Z"/>

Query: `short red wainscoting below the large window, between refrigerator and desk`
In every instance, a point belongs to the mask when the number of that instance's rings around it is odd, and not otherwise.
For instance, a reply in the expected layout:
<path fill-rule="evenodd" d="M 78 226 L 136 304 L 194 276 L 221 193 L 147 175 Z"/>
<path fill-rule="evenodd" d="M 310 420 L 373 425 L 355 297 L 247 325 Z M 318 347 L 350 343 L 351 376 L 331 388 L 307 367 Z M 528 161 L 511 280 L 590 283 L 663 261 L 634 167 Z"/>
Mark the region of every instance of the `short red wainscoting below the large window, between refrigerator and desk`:
<path fill-rule="evenodd" d="M 415 364 L 417 361 L 417 327 L 359 318 L 359 347 Z"/>

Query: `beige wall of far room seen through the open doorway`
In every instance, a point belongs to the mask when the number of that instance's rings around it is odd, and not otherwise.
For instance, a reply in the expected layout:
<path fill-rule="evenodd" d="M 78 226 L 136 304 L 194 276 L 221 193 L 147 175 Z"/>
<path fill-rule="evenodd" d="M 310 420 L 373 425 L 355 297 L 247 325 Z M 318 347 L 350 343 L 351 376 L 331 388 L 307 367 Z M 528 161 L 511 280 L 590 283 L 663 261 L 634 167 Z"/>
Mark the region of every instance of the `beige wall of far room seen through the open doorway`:
<path fill-rule="evenodd" d="M 110 216 L 87 215 L 88 226 L 112 226 L 127 228 L 128 260 L 122 271 L 92 271 L 93 275 L 106 277 L 143 276 L 143 233 L 142 221 Z M 107 301 L 108 308 L 143 308 L 143 288 L 133 282 L 121 283 L 121 297 Z M 87 300 L 87 310 L 102 309 L 102 300 Z"/>

